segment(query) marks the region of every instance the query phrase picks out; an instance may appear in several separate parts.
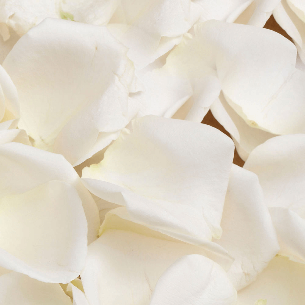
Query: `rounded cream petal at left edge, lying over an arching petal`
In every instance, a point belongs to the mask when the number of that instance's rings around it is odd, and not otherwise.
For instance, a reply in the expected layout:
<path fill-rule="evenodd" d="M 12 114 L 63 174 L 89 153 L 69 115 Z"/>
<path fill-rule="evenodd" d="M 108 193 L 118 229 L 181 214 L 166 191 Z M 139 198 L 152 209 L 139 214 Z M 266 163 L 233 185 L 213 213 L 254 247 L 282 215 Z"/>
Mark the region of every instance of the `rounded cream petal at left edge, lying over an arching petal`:
<path fill-rule="evenodd" d="M 53 283 L 79 275 L 87 254 L 87 222 L 74 187 L 49 181 L 0 203 L 3 267 Z"/>

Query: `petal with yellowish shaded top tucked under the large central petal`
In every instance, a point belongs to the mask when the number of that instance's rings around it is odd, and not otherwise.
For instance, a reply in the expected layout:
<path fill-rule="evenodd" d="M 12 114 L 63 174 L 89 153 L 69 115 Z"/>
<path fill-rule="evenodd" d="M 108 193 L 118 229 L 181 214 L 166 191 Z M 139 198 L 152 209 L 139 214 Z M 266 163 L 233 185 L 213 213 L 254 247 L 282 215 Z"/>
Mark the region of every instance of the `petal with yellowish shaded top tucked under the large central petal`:
<path fill-rule="evenodd" d="M 132 222 L 124 225 L 123 220 L 110 220 L 106 222 L 115 229 L 105 229 L 99 239 L 88 246 L 81 273 L 84 292 L 91 305 L 148 305 L 158 279 L 171 264 L 188 254 L 205 255 L 200 247 Z"/>

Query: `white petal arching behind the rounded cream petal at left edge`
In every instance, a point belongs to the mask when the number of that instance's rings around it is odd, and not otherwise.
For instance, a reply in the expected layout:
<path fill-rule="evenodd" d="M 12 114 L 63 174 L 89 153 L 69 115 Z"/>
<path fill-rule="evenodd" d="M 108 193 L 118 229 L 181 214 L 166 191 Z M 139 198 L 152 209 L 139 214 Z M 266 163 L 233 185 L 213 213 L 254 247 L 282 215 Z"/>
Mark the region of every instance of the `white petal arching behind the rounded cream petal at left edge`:
<path fill-rule="evenodd" d="M 1 196 L 25 193 L 51 180 L 69 183 L 82 201 L 88 222 L 88 242 L 97 238 L 100 222 L 96 204 L 63 156 L 20 143 L 3 144 L 0 146 L 0 177 Z"/>

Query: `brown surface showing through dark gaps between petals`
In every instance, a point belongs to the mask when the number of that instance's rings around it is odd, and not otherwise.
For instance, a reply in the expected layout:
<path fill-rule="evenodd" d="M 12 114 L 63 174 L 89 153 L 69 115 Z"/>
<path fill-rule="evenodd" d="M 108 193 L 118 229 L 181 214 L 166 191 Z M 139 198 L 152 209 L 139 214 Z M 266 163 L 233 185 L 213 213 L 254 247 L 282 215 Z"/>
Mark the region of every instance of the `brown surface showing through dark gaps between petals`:
<path fill-rule="evenodd" d="M 278 23 L 275 21 L 274 17 L 271 15 L 271 17 L 268 19 L 268 21 L 266 22 L 264 28 L 269 29 L 269 30 L 273 30 L 275 32 L 278 32 L 280 34 L 282 34 L 284 37 L 286 37 L 287 39 L 289 39 L 290 41 L 292 41 L 291 37 L 278 25 Z M 203 121 L 201 123 L 213 126 L 217 129 L 219 129 L 220 131 L 222 131 L 223 133 L 225 133 L 226 135 L 230 136 L 229 133 L 224 129 L 224 127 L 222 127 L 221 124 L 219 124 L 217 122 L 217 120 L 213 117 L 213 114 L 211 113 L 211 111 L 209 110 L 209 112 L 206 114 L 206 116 L 204 117 Z M 233 163 L 237 164 L 239 166 L 243 166 L 244 165 L 244 161 L 239 157 L 236 149 L 234 152 L 234 159 L 233 159 Z"/>

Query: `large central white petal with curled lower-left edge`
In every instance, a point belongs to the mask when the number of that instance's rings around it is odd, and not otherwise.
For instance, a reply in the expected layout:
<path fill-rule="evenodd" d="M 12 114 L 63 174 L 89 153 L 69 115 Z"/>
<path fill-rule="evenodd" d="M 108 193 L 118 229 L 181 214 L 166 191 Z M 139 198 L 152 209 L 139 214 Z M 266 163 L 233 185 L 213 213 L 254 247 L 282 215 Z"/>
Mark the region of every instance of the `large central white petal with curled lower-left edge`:
<path fill-rule="evenodd" d="M 208 125 L 146 116 L 122 131 L 99 164 L 84 168 L 82 180 L 165 234 L 219 238 L 233 148 Z"/>

